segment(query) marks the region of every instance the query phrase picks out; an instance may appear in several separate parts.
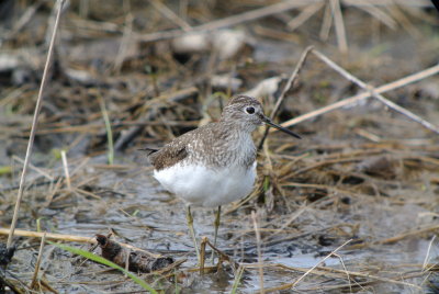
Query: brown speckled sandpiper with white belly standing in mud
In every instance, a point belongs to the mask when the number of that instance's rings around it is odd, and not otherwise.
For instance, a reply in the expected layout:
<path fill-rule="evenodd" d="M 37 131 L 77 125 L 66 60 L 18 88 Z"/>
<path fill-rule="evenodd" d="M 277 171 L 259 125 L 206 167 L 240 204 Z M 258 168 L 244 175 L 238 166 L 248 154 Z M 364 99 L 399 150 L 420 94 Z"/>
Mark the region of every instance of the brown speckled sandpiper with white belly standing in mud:
<path fill-rule="evenodd" d="M 300 138 L 272 123 L 258 100 L 237 95 L 224 108 L 218 122 L 188 132 L 159 150 L 146 149 L 154 177 L 187 204 L 188 226 L 199 261 L 191 205 L 218 207 L 214 222 L 216 244 L 221 205 L 243 199 L 254 189 L 256 147 L 251 133 L 262 123 Z"/>

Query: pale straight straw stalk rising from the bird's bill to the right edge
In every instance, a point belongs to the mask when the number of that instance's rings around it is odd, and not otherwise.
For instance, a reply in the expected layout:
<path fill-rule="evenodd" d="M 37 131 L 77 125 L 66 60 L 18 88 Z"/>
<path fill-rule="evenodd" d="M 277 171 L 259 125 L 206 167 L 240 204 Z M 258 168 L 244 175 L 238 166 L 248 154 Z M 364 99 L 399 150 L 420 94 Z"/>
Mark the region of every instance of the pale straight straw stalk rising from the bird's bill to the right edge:
<path fill-rule="evenodd" d="M 405 78 L 402 78 L 399 80 L 396 80 L 396 81 L 383 84 L 381 87 L 378 87 L 378 88 L 374 89 L 374 92 L 375 93 L 384 93 L 384 92 L 387 92 L 387 91 L 404 87 L 404 86 L 406 86 L 408 83 L 416 82 L 416 81 L 423 80 L 425 78 L 428 78 L 430 76 L 437 75 L 438 72 L 439 72 L 439 65 L 436 65 L 436 66 L 432 66 L 432 67 L 427 68 L 425 70 L 421 70 L 419 72 L 416 72 L 416 74 L 413 74 L 413 75 L 407 76 Z M 283 127 L 289 127 L 289 126 L 302 123 L 304 121 L 311 120 L 313 117 L 319 116 L 322 114 L 328 113 L 330 111 L 334 111 L 334 110 L 337 110 L 337 109 L 341 109 L 341 108 L 347 106 L 347 105 L 356 104 L 356 103 L 358 103 L 358 102 L 360 102 L 360 101 L 362 101 L 364 99 L 370 98 L 371 95 L 372 94 L 370 92 L 356 94 L 353 97 L 344 99 L 341 101 L 338 101 L 338 102 L 336 102 L 334 104 L 330 104 L 330 105 L 327 105 L 325 108 L 322 108 L 322 109 L 305 113 L 303 115 L 300 115 L 300 116 L 297 116 L 297 117 L 295 117 L 293 120 L 290 120 L 290 121 L 286 121 L 286 122 L 282 123 L 281 125 Z M 271 128 L 269 132 L 275 132 L 275 131 L 277 129 Z"/>

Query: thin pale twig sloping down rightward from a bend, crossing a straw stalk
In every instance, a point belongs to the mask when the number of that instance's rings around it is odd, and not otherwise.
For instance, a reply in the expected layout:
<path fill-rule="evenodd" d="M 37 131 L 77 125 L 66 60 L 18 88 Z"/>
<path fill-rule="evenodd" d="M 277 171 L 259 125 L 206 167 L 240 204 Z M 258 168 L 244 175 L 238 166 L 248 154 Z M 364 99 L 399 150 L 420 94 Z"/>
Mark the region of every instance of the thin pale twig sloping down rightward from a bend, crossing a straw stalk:
<path fill-rule="evenodd" d="M 418 115 L 414 114 L 413 112 L 393 103 L 392 101 L 387 100 L 383 95 L 376 92 L 376 89 L 367 84 L 365 82 L 361 81 L 357 77 L 352 76 L 350 72 L 338 66 L 336 63 L 330 60 L 328 57 L 319 53 L 318 50 L 313 50 L 313 53 L 325 64 L 327 64 L 330 68 L 333 68 L 335 71 L 344 76 L 346 79 L 352 81 L 353 83 L 358 84 L 359 87 L 363 88 L 364 90 L 368 90 L 372 97 L 376 98 L 380 100 L 383 104 L 389 106 L 390 109 L 393 109 L 394 111 L 407 116 L 408 118 L 424 125 L 426 128 L 439 134 L 439 127 L 425 121 L 424 118 L 419 117 Z"/>

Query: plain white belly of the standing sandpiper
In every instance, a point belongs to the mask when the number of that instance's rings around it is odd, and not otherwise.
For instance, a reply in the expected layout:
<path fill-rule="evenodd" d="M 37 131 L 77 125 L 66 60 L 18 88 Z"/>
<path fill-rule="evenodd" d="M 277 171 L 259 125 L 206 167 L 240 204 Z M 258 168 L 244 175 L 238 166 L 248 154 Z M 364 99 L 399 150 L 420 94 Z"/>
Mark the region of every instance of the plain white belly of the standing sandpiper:
<path fill-rule="evenodd" d="M 209 169 L 194 165 L 176 165 L 154 177 L 162 186 L 191 205 L 214 207 L 250 194 L 256 179 L 256 161 L 249 168 Z"/>

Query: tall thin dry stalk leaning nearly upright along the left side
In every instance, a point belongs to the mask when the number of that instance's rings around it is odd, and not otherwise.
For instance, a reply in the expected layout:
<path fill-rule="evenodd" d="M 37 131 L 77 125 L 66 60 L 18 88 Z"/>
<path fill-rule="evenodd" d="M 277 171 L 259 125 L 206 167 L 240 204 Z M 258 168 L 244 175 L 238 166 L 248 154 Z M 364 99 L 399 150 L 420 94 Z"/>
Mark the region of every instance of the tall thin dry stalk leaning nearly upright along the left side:
<path fill-rule="evenodd" d="M 48 69 L 49 69 L 50 61 L 52 61 L 52 56 L 53 56 L 53 53 L 54 53 L 55 37 L 56 37 L 56 33 L 58 31 L 59 19 L 60 19 L 63 7 L 64 7 L 65 2 L 66 2 L 66 0 L 58 0 L 56 2 L 57 5 L 58 5 L 58 12 L 56 14 L 54 32 L 52 34 L 50 45 L 48 47 L 48 53 L 47 53 L 47 59 L 46 59 L 46 64 L 44 66 L 43 78 L 42 78 L 42 82 L 41 82 L 41 86 L 40 86 L 38 98 L 36 100 L 36 105 L 35 105 L 35 113 L 34 113 L 34 117 L 32 120 L 32 128 L 31 128 L 31 135 L 30 135 L 29 144 L 27 144 L 26 157 L 24 158 L 23 171 L 22 171 L 21 178 L 20 178 L 20 188 L 19 188 L 19 193 L 16 195 L 14 213 L 13 213 L 13 216 L 12 216 L 11 230 L 10 230 L 9 236 L 8 236 L 8 242 L 7 242 L 8 247 L 11 247 L 11 245 L 12 245 L 12 239 L 13 239 L 14 230 L 15 230 L 15 226 L 16 226 L 16 219 L 19 217 L 21 199 L 23 196 L 24 180 L 25 180 L 26 172 L 27 172 L 27 166 L 29 166 L 29 162 L 31 160 L 32 147 L 34 145 L 35 129 L 36 129 L 36 124 L 37 124 L 37 121 L 38 121 L 38 114 L 40 114 L 41 106 L 42 106 L 42 101 L 43 101 L 43 92 L 44 92 L 44 89 L 45 89 L 46 83 L 47 83 Z"/>

